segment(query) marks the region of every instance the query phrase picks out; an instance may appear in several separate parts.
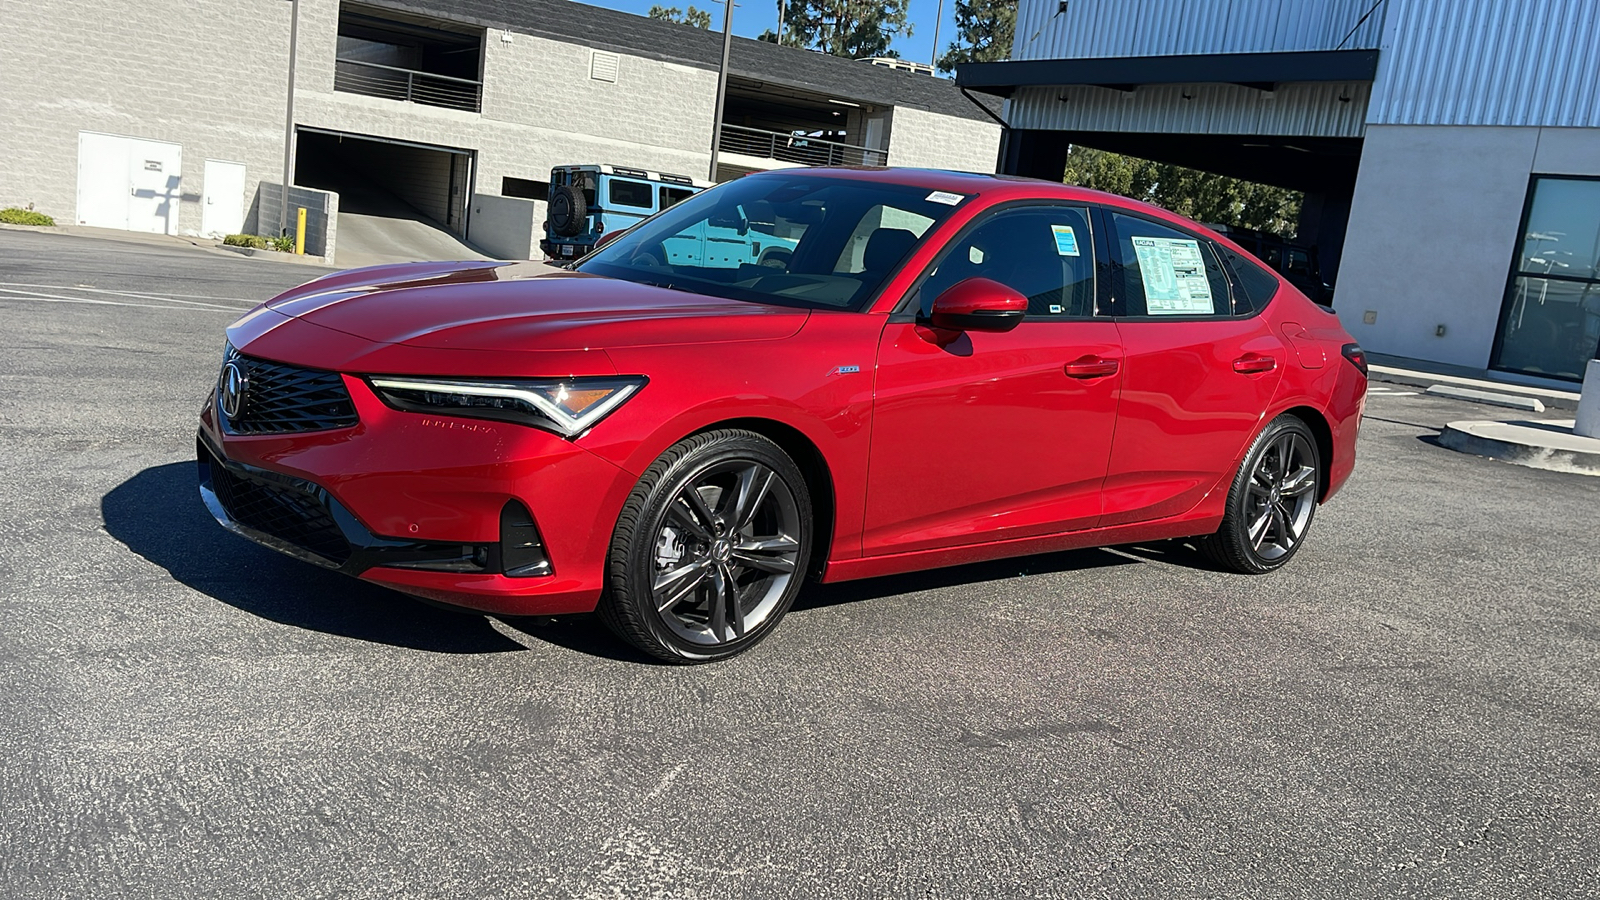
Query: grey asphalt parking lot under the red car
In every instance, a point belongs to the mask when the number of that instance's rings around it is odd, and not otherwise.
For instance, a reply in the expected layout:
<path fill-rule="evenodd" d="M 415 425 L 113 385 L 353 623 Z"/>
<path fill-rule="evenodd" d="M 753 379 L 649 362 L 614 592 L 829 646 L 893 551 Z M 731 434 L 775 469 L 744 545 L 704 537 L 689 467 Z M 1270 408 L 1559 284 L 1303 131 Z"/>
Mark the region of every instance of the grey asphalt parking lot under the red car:
<path fill-rule="evenodd" d="M 1286 570 L 813 586 L 755 652 L 456 615 L 224 533 L 194 416 L 317 269 L 0 231 L 0 895 L 1600 892 L 1600 479 L 1374 392 Z"/>

